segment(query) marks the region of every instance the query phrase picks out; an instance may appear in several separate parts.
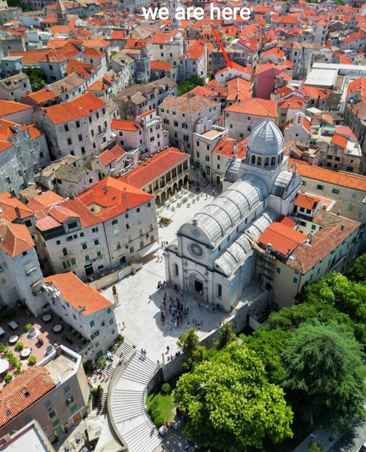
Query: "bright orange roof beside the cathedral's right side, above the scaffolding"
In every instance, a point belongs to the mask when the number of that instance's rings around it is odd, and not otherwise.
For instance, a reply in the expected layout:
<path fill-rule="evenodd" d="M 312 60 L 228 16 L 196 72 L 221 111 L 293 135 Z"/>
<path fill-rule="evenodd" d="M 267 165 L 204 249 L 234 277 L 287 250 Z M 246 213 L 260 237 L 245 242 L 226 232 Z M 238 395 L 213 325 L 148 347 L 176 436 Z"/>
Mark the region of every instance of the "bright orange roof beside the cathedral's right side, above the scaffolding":
<path fill-rule="evenodd" d="M 264 230 L 258 241 L 262 245 L 270 244 L 273 250 L 287 256 L 299 243 L 304 242 L 307 238 L 307 235 L 275 221 Z"/>

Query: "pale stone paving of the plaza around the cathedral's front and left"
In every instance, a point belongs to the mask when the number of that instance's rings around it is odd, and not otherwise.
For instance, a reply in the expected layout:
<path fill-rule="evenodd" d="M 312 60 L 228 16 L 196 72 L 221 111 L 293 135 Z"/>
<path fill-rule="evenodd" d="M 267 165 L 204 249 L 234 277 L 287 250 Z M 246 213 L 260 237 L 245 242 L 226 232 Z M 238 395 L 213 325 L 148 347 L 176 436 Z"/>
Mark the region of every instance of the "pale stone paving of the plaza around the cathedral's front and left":
<path fill-rule="evenodd" d="M 195 194 L 194 198 L 197 198 L 195 188 L 191 189 Z M 176 240 L 176 231 L 186 221 L 195 215 L 196 212 L 204 207 L 204 205 L 212 199 L 212 188 L 206 189 L 208 197 L 206 199 L 206 193 L 199 195 L 199 200 L 191 202 L 190 207 L 182 204 L 181 207 L 176 208 L 175 214 L 172 217 L 172 221 L 167 226 L 159 228 L 160 240 L 168 241 L 169 243 Z M 174 198 L 174 197 L 173 197 Z M 173 205 L 176 203 L 172 203 Z M 228 313 L 213 311 L 213 306 L 209 305 L 206 309 L 206 303 L 201 300 L 199 294 L 196 294 L 196 300 L 194 300 L 194 294 L 183 294 L 181 297 L 174 291 L 173 287 L 168 287 L 166 290 L 158 290 L 158 281 L 165 279 L 165 264 L 161 259 L 157 259 L 161 256 L 163 249 L 160 248 L 154 255 L 143 261 L 144 267 L 139 270 L 135 275 L 131 275 L 122 279 L 116 283 L 116 289 L 119 297 L 120 306 L 116 307 L 115 315 L 116 321 L 119 325 L 121 334 L 125 335 L 127 339 L 135 344 L 138 349 L 141 347 L 147 351 L 147 356 L 154 362 L 159 360 L 162 362 L 162 353 L 164 354 L 164 360 L 167 359 L 166 348 L 170 347 L 169 354 L 174 354 L 177 351 L 176 339 L 179 334 L 187 332 L 193 325 L 193 318 L 202 320 L 202 326 L 197 329 L 197 334 L 200 338 L 204 337 L 209 331 L 215 329 L 220 322 L 229 316 Z M 166 315 L 165 324 L 162 325 L 160 321 L 160 306 L 162 305 L 162 299 L 164 292 L 167 293 L 167 308 L 169 307 L 169 297 L 179 298 L 183 304 L 189 307 L 188 315 L 183 318 L 183 324 L 178 328 L 175 328 L 174 323 L 170 321 L 169 313 Z M 114 302 L 112 287 L 108 287 L 104 294 L 108 300 Z M 151 295 L 151 300 L 149 296 Z M 204 307 L 198 307 L 199 303 L 203 302 Z M 187 325 L 187 322 L 190 325 Z M 125 329 L 123 329 L 122 322 L 125 322 Z M 172 324 L 172 330 L 169 328 L 169 324 Z"/>

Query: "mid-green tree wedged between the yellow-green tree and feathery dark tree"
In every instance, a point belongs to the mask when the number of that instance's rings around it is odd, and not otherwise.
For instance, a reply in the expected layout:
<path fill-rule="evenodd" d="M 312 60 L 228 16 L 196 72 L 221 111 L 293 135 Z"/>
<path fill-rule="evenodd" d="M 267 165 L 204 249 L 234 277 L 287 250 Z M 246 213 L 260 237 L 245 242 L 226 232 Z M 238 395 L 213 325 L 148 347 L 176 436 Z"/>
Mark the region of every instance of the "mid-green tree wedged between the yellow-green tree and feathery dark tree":
<path fill-rule="evenodd" d="M 290 335 L 290 331 L 284 331 L 280 328 L 269 330 L 262 327 L 251 336 L 246 336 L 244 340 L 244 343 L 255 352 L 264 364 L 270 383 L 281 385 L 286 377 L 281 353 Z"/>

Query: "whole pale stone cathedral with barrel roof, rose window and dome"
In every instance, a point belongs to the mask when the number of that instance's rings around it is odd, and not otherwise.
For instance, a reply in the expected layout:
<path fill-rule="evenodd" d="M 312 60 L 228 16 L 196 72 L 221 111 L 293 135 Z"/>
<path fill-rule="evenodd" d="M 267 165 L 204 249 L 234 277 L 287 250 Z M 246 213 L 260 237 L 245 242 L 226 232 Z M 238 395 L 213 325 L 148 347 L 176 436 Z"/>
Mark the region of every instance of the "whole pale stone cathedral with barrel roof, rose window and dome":
<path fill-rule="evenodd" d="M 250 134 L 246 156 L 228 165 L 220 195 L 183 224 L 165 251 L 167 281 L 201 292 L 225 311 L 258 278 L 256 240 L 281 215 L 293 211 L 301 176 L 291 172 L 283 135 L 269 119 Z"/>

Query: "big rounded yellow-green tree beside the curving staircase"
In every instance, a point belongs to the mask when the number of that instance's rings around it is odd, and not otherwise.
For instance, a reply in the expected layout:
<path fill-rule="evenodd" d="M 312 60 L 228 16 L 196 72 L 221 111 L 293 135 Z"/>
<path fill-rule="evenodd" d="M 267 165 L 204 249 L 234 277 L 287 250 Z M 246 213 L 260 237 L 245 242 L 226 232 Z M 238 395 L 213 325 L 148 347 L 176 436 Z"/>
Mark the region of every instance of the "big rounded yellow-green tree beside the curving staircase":
<path fill-rule="evenodd" d="M 199 446 L 243 452 L 292 436 L 292 411 L 264 365 L 236 342 L 213 351 L 177 382 L 173 398 L 186 416 L 185 432 Z"/>

